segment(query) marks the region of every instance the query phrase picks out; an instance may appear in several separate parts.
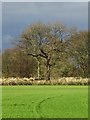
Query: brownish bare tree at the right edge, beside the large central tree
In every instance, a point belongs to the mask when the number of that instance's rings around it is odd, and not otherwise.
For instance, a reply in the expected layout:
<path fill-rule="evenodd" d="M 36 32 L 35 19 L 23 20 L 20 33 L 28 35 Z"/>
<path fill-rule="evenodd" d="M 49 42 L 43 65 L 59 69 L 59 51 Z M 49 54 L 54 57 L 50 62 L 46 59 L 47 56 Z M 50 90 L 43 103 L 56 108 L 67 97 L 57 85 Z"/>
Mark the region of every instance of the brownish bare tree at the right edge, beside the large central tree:
<path fill-rule="evenodd" d="M 88 32 L 80 31 L 71 37 L 70 58 L 74 70 L 82 77 L 88 74 Z"/>

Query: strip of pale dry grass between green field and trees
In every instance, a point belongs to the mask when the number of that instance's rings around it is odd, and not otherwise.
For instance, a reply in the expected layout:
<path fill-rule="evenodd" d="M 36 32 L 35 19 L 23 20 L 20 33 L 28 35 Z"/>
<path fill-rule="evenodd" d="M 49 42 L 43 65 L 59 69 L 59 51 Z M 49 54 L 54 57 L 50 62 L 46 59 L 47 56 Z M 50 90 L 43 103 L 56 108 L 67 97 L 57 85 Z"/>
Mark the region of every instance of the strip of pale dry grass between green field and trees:
<path fill-rule="evenodd" d="M 35 80 L 34 78 L 0 78 L 0 85 L 89 85 L 88 78 L 62 77 L 57 80 Z"/>

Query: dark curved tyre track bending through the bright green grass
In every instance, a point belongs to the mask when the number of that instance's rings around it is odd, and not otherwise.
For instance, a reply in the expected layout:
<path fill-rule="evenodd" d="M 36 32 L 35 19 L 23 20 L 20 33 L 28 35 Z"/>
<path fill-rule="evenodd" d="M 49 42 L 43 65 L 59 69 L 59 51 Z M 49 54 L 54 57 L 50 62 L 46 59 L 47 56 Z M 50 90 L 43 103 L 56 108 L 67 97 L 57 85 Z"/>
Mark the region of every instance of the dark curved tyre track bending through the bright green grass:
<path fill-rule="evenodd" d="M 61 96 L 63 96 L 63 95 L 61 95 Z M 43 113 L 40 111 L 40 109 L 41 109 L 41 104 L 42 104 L 43 102 L 46 102 L 47 100 L 50 100 L 50 99 L 53 99 L 53 98 L 57 98 L 57 97 L 61 97 L 61 96 L 51 96 L 51 97 L 47 97 L 47 98 L 41 100 L 41 101 L 35 106 L 35 110 L 36 110 L 37 115 L 39 115 L 40 118 L 44 118 Z"/>

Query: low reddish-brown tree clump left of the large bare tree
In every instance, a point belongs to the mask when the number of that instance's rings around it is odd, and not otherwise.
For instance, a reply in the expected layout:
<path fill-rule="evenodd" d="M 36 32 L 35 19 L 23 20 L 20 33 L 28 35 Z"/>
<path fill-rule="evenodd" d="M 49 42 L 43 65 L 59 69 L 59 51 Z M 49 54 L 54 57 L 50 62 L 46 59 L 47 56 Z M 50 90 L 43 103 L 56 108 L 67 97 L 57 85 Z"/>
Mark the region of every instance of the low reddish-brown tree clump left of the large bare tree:
<path fill-rule="evenodd" d="M 5 77 L 30 77 L 36 75 L 36 61 L 18 48 L 5 50 L 2 55 L 2 73 Z"/>

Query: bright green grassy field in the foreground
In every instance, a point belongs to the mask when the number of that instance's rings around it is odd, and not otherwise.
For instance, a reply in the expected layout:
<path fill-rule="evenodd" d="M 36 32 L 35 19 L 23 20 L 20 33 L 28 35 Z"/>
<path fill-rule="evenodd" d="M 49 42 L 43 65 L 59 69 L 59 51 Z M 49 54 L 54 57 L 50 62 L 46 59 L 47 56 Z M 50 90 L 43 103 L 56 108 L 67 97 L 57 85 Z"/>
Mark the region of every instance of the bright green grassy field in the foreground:
<path fill-rule="evenodd" d="M 3 86 L 3 118 L 87 118 L 87 86 Z"/>

